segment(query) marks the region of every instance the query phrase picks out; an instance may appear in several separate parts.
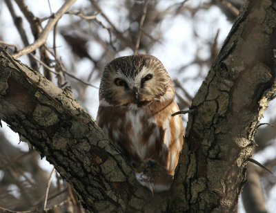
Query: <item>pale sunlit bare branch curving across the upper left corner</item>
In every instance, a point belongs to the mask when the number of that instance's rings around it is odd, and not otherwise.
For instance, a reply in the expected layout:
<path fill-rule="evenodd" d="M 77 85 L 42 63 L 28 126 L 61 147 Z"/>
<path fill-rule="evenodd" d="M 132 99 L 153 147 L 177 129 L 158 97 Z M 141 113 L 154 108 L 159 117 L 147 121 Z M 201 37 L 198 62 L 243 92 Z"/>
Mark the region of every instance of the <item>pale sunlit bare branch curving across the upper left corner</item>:
<path fill-rule="evenodd" d="M 66 3 L 63 4 L 63 6 L 59 9 L 59 11 L 57 11 L 55 16 L 53 16 L 52 19 L 50 19 L 48 21 L 48 24 L 43 29 L 41 35 L 39 35 L 39 38 L 36 41 L 34 41 L 34 43 L 30 44 L 29 46 L 26 46 L 26 48 L 23 48 L 22 50 L 19 50 L 18 53 L 13 54 L 12 56 L 15 58 L 21 57 L 22 55 L 32 53 L 33 50 L 35 50 L 35 49 L 39 48 L 41 45 L 43 45 L 45 43 L 50 31 L 55 26 L 57 21 L 59 21 L 61 16 L 70 8 L 70 6 L 72 6 L 73 3 L 75 3 L 75 1 L 76 0 L 66 1 Z"/>

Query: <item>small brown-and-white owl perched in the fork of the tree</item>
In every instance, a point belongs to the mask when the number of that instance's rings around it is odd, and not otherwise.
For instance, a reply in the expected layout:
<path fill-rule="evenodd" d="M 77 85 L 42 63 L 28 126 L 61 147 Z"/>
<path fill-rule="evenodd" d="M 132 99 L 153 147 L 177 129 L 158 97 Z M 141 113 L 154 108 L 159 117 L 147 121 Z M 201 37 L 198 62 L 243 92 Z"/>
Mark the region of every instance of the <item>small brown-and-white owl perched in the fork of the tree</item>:
<path fill-rule="evenodd" d="M 118 57 L 104 68 L 97 124 L 152 192 L 170 189 L 175 174 L 184 135 L 177 111 L 172 80 L 156 57 Z"/>

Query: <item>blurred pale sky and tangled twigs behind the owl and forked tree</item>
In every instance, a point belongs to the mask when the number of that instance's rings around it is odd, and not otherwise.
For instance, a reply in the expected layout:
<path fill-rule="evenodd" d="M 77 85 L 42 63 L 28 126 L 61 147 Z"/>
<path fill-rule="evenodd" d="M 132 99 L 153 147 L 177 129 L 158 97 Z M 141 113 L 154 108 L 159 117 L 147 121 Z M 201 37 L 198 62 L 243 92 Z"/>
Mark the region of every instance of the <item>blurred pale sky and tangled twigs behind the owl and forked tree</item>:
<path fill-rule="evenodd" d="M 32 44 L 65 2 L 0 0 L 0 46 L 15 53 Z M 175 83 L 179 108 L 186 110 L 243 4 L 244 0 L 78 0 L 59 19 L 46 44 L 19 59 L 57 86 L 72 86 L 73 96 L 95 119 L 106 63 L 135 51 L 155 55 Z M 274 108 L 275 101 L 270 102 L 262 123 L 276 125 Z M 182 118 L 186 126 L 188 118 Z M 0 212 L 84 212 L 52 165 L 1 124 Z M 259 127 L 253 156 L 274 173 L 275 137 L 272 126 Z M 249 163 L 248 181 L 238 211 L 276 212 L 275 176 Z"/>

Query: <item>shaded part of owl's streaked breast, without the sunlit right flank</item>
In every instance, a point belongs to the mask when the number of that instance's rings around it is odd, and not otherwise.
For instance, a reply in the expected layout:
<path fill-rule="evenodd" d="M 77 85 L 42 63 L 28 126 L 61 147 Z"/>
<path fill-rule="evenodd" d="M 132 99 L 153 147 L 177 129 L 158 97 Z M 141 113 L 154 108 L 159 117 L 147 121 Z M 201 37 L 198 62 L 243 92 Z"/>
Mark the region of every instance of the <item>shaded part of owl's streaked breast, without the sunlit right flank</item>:
<path fill-rule="evenodd" d="M 121 151 L 136 163 L 159 158 L 161 150 L 167 149 L 162 145 L 164 129 L 145 108 L 132 110 L 100 106 L 97 123 L 104 133 L 119 145 Z M 165 161 L 166 159 L 164 163 Z"/>

